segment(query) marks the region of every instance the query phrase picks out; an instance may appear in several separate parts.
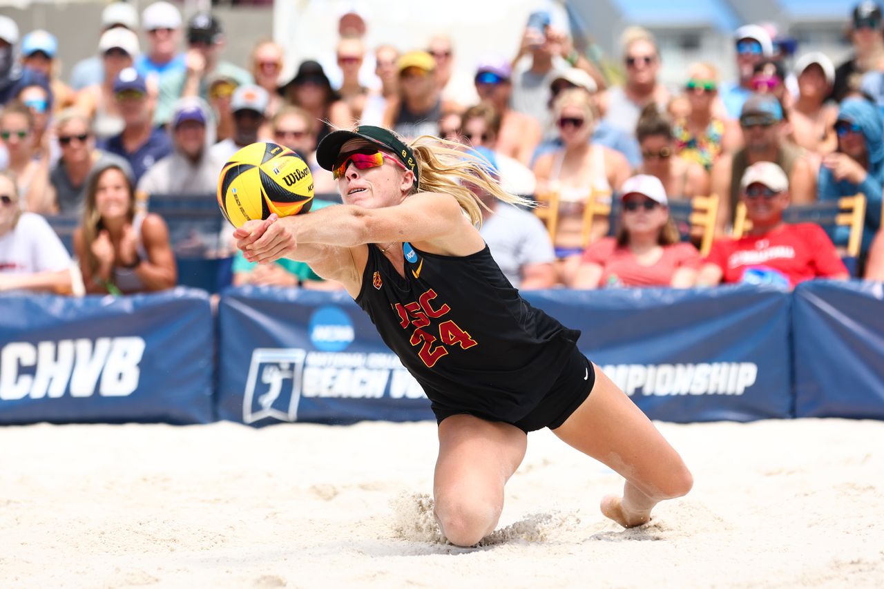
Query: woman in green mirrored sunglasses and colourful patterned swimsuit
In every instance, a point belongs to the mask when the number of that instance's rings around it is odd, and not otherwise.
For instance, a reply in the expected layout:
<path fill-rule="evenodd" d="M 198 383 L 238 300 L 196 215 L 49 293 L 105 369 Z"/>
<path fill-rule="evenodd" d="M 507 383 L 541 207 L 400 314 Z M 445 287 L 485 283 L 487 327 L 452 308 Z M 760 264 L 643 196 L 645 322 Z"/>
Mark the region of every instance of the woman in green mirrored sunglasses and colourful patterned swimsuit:
<path fill-rule="evenodd" d="M 735 135 L 728 123 L 715 113 L 718 85 L 719 73 L 714 65 L 690 65 L 684 85 L 690 112 L 682 119 L 675 119 L 672 126 L 675 153 L 702 165 L 706 172 L 712 170 L 726 146 L 732 146 Z"/>

